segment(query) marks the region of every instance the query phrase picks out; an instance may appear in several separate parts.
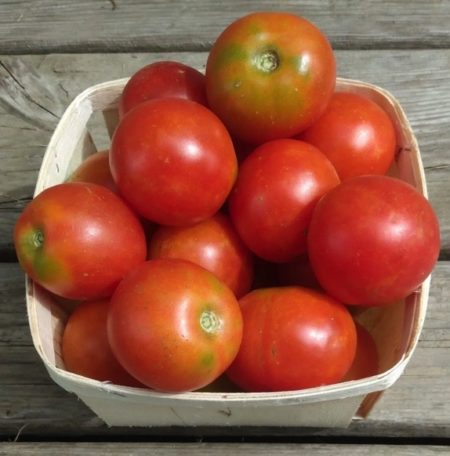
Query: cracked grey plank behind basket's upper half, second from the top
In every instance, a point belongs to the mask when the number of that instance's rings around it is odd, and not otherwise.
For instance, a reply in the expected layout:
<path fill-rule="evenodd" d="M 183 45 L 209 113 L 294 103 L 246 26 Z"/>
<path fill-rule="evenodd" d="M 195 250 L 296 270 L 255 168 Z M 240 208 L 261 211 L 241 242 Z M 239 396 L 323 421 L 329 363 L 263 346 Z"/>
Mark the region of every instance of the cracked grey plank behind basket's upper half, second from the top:
<path fill-rule="evenodd" d="M 155 60 L 203 68 L 206 53 L 83 54 L 0 57 L 0 261 L 13 257 L 11 233 L 29 201 L 57 118 L 88 86 L 131 75 Z M 430 200 L 450 252 L 450 50 L 338 51 L 338 74 L 390 90 L 404 107 L 421 148 Z M 108 147 L 96 133 L 98 148 Z"/>

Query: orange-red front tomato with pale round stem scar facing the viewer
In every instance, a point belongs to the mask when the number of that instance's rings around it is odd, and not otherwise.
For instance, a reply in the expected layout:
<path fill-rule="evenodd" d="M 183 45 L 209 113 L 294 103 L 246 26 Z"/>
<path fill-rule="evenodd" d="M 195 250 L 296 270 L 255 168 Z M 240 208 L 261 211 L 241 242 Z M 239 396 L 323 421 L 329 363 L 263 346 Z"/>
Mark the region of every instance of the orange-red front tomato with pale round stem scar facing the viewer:
<path fill-rule="evenodd" d="M 166 392 L 199 389 L 230 365 L 242 338 L 233 292 L 190 261 L 150 260 L 117 287 L 108 315 L 113 353 L 131 375 Z"/>

